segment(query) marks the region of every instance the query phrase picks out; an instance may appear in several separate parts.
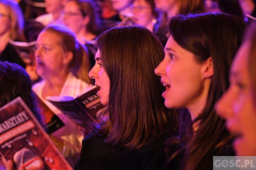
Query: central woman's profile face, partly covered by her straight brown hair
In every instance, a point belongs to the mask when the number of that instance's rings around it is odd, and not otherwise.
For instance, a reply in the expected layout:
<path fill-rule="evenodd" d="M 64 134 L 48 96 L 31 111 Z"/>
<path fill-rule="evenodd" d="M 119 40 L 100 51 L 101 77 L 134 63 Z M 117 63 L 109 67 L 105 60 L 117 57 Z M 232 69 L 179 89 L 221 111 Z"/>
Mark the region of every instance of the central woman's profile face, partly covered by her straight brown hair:
<path fill-rule="evenodd" d="M 109 104 L 109 89 L 110 81 L 109 77 L 104 70 L 104 66 L 101 63 L 100 51 L 98 50 L 95 55 L 95 65 L 89 72 L 89 77 L 95 79 L 95 85 L 100 87 L 100 90 L 97 94 L 100 97 L 100 102 L 103 105 Z"/>

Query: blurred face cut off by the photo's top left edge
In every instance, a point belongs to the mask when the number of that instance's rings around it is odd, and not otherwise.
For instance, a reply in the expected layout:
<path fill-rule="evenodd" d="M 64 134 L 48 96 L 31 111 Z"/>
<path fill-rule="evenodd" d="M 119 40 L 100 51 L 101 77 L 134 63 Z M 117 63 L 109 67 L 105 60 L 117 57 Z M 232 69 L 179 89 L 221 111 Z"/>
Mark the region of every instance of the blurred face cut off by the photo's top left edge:
<path fill-rule="evenodd" d="M 0 36 L 11 29 L 11 20 L 8 9 L 0 3 Z"/>

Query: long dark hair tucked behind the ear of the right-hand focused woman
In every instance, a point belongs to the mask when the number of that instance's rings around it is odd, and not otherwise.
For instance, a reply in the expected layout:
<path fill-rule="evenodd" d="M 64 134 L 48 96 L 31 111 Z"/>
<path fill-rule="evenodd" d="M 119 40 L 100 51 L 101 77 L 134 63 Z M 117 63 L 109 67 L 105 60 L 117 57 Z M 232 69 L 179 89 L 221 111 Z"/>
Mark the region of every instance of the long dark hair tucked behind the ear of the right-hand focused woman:
<path fill-rule="evenodd" d="M 188 111 L 181 114 L 180 135 L 167 141 L 169 161 L 182 155 L 181 169 L 209 169 L 212 156 L 222 154 L 232 140 L 224 120 L 215 113 L 214 104 L 229 86 L 229 68 L 245 28 L 241 18 L 221 13 L 171 18 L 170 33 L 177 44 L 195 54 L 199 63 L 212 57 L 214 70 L 203 112 L 193 122 Z M 193 124 L 198 124 L 195 132 Z M 174 153 L 173 146 L 176 146 Z"/>

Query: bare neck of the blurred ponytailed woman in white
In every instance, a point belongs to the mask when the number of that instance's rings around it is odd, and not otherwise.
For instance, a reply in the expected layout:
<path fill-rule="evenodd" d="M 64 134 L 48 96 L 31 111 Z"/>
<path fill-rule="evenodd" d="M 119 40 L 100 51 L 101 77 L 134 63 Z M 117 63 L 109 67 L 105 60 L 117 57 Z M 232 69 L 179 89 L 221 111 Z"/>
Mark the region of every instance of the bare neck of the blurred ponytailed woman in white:
<path fill-rule="evenodd" d="M 68 75 L 69 72 L 44 78 L 45 85 L 43 87 L 42 97 L 45 99 L 47 96 L 59 96 Z"/>

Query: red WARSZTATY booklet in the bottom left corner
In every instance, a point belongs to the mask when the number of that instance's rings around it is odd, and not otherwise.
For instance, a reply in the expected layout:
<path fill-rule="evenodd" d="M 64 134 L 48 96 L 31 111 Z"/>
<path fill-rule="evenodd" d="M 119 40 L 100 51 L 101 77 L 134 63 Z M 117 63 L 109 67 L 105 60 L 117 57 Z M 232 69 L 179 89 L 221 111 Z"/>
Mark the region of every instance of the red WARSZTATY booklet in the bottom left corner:
<path fill-rule="evenodd" d="M 0 148 L 14 169 L 72 169 L 20 97 L 0 108 Z"/>

